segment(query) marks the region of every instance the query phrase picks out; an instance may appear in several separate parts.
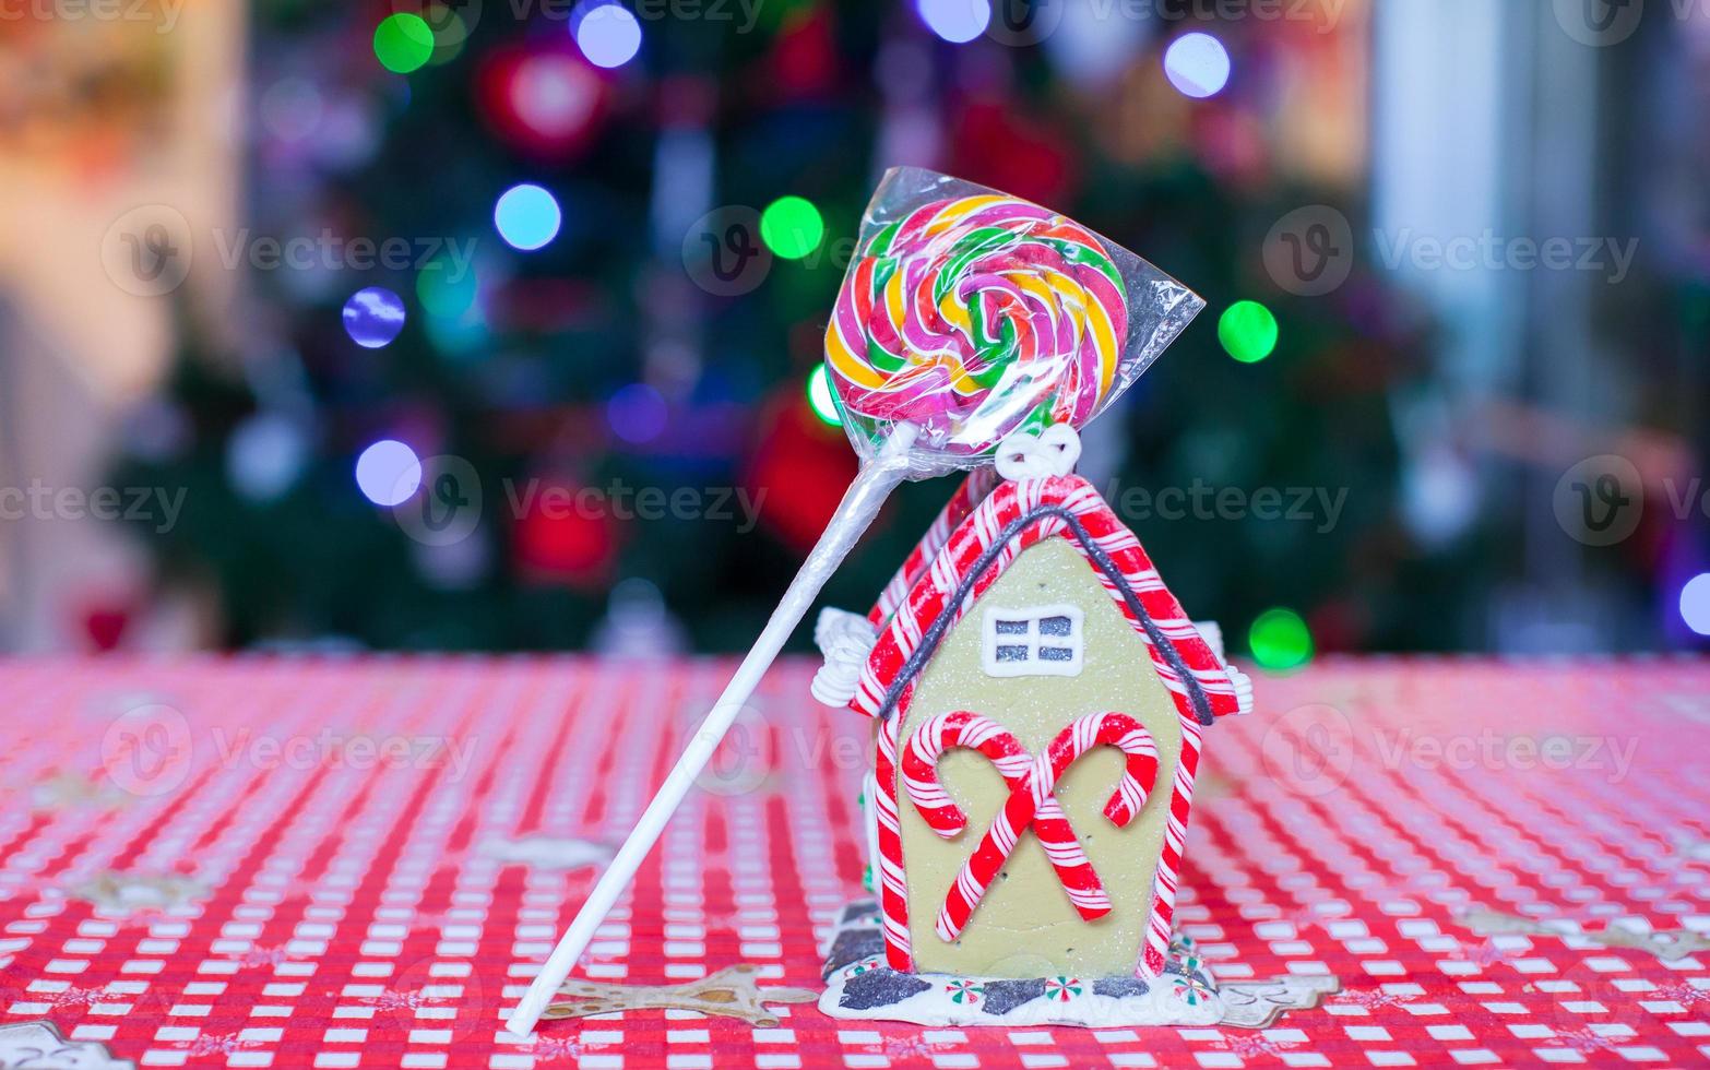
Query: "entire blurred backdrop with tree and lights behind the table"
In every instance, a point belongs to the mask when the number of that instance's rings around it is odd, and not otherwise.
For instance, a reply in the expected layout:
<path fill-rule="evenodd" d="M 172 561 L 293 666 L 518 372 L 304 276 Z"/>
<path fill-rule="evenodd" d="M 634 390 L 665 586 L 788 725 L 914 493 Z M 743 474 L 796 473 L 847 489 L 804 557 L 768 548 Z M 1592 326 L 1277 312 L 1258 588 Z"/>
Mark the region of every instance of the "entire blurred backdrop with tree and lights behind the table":
<path fill-rule="evenodd" d="M 1082 470 L 1236 650 L 1710 632 L 1707 3 L 24 0 L 0 84 L 9 650 L 744 648 L 893 164 L 1206 296 Z"/>

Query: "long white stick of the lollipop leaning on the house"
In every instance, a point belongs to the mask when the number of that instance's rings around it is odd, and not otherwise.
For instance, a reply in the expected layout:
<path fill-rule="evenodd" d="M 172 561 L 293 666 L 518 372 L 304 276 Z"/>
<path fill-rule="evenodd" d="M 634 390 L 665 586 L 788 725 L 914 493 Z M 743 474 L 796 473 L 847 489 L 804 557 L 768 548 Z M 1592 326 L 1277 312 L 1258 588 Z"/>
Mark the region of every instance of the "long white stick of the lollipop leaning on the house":
<path fill-rule="evenodd" d="M 759 687 L 761 677 L 766 675 L 766 668 L 778 658 L 778 651 L 783 650 L 790 632 L 807 615 L 809 607 L 819 597 L 819 590 L 826 586 L 831 573 L 848 557 L 855 540 L 862 537 L 872 518 L 879 514 L 879 506 L 884 504 L 884 499 L 908 477 L 908 450 L 915 444 L 918 434 L 920 429 L 913 424 L 898 424 L 891 431 L 884 450 L 879 451 L 879 456 L 862 467 L 860 475 L 850 484 L 850 489 L 843 494 L 843 501 L 838 503 L 836 514 L 826 525 L 826 533 L 814 544 L 807 561 L 802 562 L 802 569 L 790 581 L 790 590 L 783 593 L 783 602 L 771 612 L 766 629 L 754 641 L 754 650 L 742 658 L 742 665 L 730 677 L 725 692 L 718 696 L 713 711 L 706 714 L 699 730 L 689 738 L 689 745 L 682 750 L 682 757 L 677 759 L 670 776 L 665 778 L 665 785 L 653 797 L 653 802 L 648 803 L 641 814 L 641 820 L 629 832 L 629 839 L 624 841 L 617 856 L 612 858 L 612 865 L 600 875 L 598 884 L 593 885 L 593 892 L 588 894 L 588 901 L 581 904 L 576 920 L 569 923 L 557 947 L 552 949 L 540 973 L 535 974 L 534 985 L 523 995 L 523 1002 L 506 1019 L 506 1029 L 516 1036 L 528 1036 L 534 1031 L 535 1022 L 540 1020 L 540 1014 L 557 993 L 557 986 L 569 978 L 569 971 L 581 959 L 581 952 L 587 950 L 593 932 L 600 926 L 600 921 L 605 921 L 605 914 L 617 902 L 617 896 L 629 887 L 636 870 L 641 868 L 641 861 L 658 841 L 658 834 L 665 831 L 665 822 L 677 812 L 682 797 L 689 793 L 701 769 L 706 767 L 713 752 L 718 750 L 720 740 L 730 732 L 732 721 L 742 713 L 754 689 Z"/>

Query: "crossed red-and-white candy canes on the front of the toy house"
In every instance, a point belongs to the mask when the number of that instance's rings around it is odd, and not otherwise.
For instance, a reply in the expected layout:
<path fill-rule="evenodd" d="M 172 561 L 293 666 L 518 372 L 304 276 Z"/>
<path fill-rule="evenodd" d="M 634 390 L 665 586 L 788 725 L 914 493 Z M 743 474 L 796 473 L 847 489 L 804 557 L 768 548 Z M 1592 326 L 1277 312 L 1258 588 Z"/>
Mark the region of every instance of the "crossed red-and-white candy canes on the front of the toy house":
<path fill-rule="evenodd" d="M 1033 757 L 1014 735 L 995 721 L 958 709 L 925 721 L 903 749 L 903 785 L 927 826 L 951 839 L 966 826 L 961 812 L 939 783 L 939 759 L 951 747 L 978 750 L 997 766 L 1009 785 L 1009 798 L 992 820 L 975 853 L 963 863 L 956 882 L 944 897 L 937 932 L 944 942 L 954 940 L 968 925 L 973 909 L 985 897 L 992 879 L 1009 861 L 1021 834 L 1029 827 L 1040 838 L 1045 856 L 1057 870 L 1057 880 L 1069 892 L 1069 902 L 1093 921 L 1110 913 L 1110 896 L 1088 861 L 1069 817 L 1057 802 L 1057 781 L 1082 754 L 1094 747 L 1117 747 L 1129 761 L 1115 793 L 1105 805 L 1105 817 L 1125 827 L 1146 807 L 1146 797 L 1158 781 L 1158 749 L 1153 737 L 1125 713 L 1088 714 L 1052 740 L 1045 754 Z"/>

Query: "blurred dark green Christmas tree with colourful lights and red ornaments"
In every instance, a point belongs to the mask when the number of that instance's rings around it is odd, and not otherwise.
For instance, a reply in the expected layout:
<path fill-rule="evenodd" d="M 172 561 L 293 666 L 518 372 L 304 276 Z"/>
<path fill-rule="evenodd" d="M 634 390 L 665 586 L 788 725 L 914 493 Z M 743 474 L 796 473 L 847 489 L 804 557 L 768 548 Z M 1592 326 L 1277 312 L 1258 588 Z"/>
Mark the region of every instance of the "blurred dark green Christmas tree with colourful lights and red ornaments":
<path fill-rule="evenodd" d="M 999 7 L 262 3 L 241 248 L 265 311 L 243 352 L 190 338 L 162 402 L 190 434 L 132 458 L 127 479 L 190 487 L 150 542 L 162 583 L 217 591 L 229 644 L 564 648 L 633 578 L 698 648 L 746 646 L 853 473 L 807 383 L 874 179 L 915 162 L 1211 301 L 1106 417 L 1094 472 L 1118 508 L 1153 492 L 1127 518 L 1197 614 L 1442 641 L 1419 597 L 1454 586 L 1409 573 L 1390 491 L 1409 332 L 1370 284 L 1293 299 L 1259 258 L 1284 185 L 1358 186 L 1359 19 Z M 1223 44 L 1166 65 L 1206 29 Z M 1303 109 L 1317 147 L 1286 133 Z M 275 263 L 268 238 L 308 253 Z M 1257 304 L 1219 332 L 1236 301 Z M 1158 497 L 1200 484 L 1245 511 Z M 1260 487 L 1336 514 L 1255 518 Z M 864 605 L 947 492 L 905 487 L 828 600 Z"/>

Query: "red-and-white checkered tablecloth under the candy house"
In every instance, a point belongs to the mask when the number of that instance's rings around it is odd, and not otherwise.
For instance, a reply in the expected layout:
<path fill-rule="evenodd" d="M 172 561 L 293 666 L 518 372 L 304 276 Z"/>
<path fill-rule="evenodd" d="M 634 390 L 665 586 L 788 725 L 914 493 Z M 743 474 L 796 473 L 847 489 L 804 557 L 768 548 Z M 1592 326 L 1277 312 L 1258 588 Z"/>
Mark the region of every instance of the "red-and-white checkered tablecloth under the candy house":
<path fill-rule="evenodd" d="M 1710 1056 L 1710 663 L 1322 660 L 1206 733 L 1178 928 L 1267 1029 L 776 1005 L 504 1032 L 728 663 L 14 661 L 0 1065 L 1406 1067 Z M 864 718 L 781 665 L 580 976 L 814 988 Z M 51 1031 L 48 1029 L 51 1026 Z M 79 1058 L 21 1044 L 63 1038 Z M 58 1043 L 58 1041 L 53 1041 Z M 60 1061 L 50 1061 L 60 1060 Z M 109 1060 L 109 1061 L 108 1061 Z"/>

